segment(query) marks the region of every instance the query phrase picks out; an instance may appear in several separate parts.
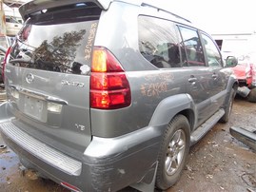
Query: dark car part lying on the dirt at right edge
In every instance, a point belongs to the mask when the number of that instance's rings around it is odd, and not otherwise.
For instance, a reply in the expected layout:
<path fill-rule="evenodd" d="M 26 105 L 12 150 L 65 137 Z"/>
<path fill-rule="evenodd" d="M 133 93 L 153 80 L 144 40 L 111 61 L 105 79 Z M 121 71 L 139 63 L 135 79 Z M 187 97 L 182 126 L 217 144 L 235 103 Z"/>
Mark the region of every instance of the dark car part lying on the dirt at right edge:
<path fill-rule="evenodd" d="M 256 152 L 256 128 L 242 128 L 231 126 L 230 134 L 252 148 Z"/>

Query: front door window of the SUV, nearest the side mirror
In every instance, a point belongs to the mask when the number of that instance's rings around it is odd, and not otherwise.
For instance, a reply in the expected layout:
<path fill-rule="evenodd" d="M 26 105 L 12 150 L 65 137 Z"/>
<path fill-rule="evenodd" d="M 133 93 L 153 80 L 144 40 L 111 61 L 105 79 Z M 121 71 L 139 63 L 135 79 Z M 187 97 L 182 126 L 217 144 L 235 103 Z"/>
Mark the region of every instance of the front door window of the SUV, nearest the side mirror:
<path fill-rule="evenodd" d="M 210 67 L 222 66 L 221 55 L 218 48 L 215 46 L 213 41 L 207 35 L 202 34 L 202 37 L 203 37 L 203 44 L 207 51 L 208 66 Z"/>

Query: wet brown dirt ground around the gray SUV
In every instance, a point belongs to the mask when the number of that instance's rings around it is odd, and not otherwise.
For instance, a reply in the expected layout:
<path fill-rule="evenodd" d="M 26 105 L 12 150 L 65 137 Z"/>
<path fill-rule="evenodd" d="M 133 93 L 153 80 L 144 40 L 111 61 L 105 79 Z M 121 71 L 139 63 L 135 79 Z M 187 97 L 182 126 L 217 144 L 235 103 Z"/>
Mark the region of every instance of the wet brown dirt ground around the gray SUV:
<path fill-rule="evenodd" d="M 236 98 L 228 124 L 218 124 L 191 147 L 181 180 L 167 192 L 256 192 L 256 152 L 233 138 L 230 126 L 256 127 L 256 104 Z M 17 156 L 0 136 L 0 191 L 67 192 L 48 180 L 22 177 Z M 30 180 L 28 179 L 30 178 Z M 131 188 L 122 191 L 134 191 Z"/>

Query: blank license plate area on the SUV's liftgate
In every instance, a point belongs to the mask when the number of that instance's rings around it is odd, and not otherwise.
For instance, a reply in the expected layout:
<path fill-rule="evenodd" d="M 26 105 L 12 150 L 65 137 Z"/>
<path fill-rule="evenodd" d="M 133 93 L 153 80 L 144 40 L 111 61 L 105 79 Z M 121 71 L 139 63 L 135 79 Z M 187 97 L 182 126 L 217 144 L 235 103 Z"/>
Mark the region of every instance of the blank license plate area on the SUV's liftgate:
<path fill-rule="evenodd" d="M 45 101 L 25 96 L 24 113 L 41 122 L 47 121 L 47 104 Z"/>

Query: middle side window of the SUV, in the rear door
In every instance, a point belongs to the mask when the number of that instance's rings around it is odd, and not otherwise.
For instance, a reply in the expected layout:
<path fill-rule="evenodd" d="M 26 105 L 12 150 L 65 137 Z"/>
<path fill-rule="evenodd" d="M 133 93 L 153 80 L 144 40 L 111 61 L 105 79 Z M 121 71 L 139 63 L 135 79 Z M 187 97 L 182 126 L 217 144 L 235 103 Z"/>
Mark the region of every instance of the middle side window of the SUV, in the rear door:
<path fill-rule="evenodd" d="M 206 66 L 202 44 L 197 31 L 183 27 L 180 27 L 180 31 L 187 53 L 187 65 L 189 67 Z"/>

